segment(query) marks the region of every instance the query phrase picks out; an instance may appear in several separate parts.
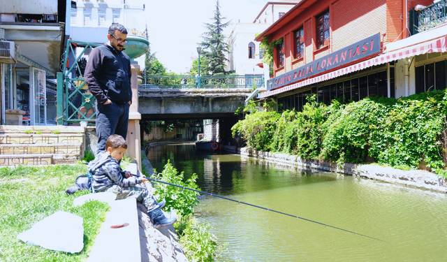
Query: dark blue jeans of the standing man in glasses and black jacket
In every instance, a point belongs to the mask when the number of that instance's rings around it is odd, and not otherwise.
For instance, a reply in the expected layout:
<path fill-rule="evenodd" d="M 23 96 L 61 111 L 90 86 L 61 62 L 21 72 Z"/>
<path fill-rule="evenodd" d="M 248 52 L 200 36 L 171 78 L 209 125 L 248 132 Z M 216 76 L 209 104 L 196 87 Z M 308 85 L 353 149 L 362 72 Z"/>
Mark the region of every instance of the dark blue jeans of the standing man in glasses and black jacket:
<path fill-rule="evenodd" d="M 109 136 L 117 134 L 126 139 L 129 107 L 129 103 L 119 104 L 115 102 L 96 106 L 96 135 L 98 135 L 96 154 L 105 151 L 105 142 L 107 142 Z"/>

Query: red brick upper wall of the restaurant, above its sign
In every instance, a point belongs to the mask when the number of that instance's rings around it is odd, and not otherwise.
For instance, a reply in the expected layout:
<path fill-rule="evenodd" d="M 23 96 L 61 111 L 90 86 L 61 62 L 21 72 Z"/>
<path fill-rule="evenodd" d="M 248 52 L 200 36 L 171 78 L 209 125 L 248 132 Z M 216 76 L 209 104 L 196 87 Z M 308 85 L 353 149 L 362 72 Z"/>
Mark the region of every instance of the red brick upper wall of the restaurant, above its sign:
<path fill-rule="evenodd" d="M 409 0 L 409 6 L 423 4 L 421 2 L 425 1 Z M 286 54 L 285 69 L 275 70 L 275 76 L 377 33 L 381 34 L 382 46 L 398 37 L 402 38 L 404 34 L 401 32 L 405 29 L 405 20 L 401 19 L 404 6 L 405 0 L 316 0 L 300 15 L 274 32 L 274 39 L 284 38 Z M 328 48 L 316 50 L 315 16 L 328 8 L 330 45 Z M 293 31 L 301 26 L 305 31 L 305 57 L 297 60 L 293 57 Z"/>

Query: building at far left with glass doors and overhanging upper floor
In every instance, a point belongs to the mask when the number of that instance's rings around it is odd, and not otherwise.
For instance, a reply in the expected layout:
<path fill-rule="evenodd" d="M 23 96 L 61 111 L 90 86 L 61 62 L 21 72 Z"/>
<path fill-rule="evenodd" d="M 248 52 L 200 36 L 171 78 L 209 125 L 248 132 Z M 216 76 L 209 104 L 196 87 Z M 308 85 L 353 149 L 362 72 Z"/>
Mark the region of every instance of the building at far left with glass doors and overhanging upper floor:
<path fill-rule="evenodd" d="M 56 73 L 67 38 L 70 4 L 1 1 L 1 124 L 56 124 Z"/>

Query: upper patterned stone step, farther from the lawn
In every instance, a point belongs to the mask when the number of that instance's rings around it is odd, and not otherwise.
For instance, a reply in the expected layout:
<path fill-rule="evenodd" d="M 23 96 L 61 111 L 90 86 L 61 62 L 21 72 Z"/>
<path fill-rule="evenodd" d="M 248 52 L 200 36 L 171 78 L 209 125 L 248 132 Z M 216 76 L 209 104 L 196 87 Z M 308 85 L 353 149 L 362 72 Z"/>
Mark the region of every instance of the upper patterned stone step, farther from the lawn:
<path fill-rule="evenodd" d="M 78 144 L 84 140 L 84 133 L 0 133 L 0 144 Z"/>

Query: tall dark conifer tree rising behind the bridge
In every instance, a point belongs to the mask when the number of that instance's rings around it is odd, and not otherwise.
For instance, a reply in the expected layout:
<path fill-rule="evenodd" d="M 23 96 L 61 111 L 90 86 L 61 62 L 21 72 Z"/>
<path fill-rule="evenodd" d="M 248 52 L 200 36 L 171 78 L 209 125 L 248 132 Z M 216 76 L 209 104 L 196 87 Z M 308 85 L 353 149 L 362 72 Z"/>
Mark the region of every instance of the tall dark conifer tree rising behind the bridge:
<path fill-rule="evenodd" d="M 203 33 L 203 42 L 199 43 L 203 47 L 203 57 L 208 60 L 209 70 L 212 71 L 213 75 L 226 73 L 225 61 L 228 60 L 226 59 L 226 53 L 230 52 L 228 44 L 224 41 L 225 36 L 222 31 L 225 27 L 228 27 L 231 21 L 223 23 L 226 17 L 221 16 L 219 8 L 219 0 L 217 0 L 214 17 L 211 18 L 214 22 L 212 24 L 205 23 L 207 32 Z M 200 59 L 200 66 L 202 66 L 201 61 Z"/>

